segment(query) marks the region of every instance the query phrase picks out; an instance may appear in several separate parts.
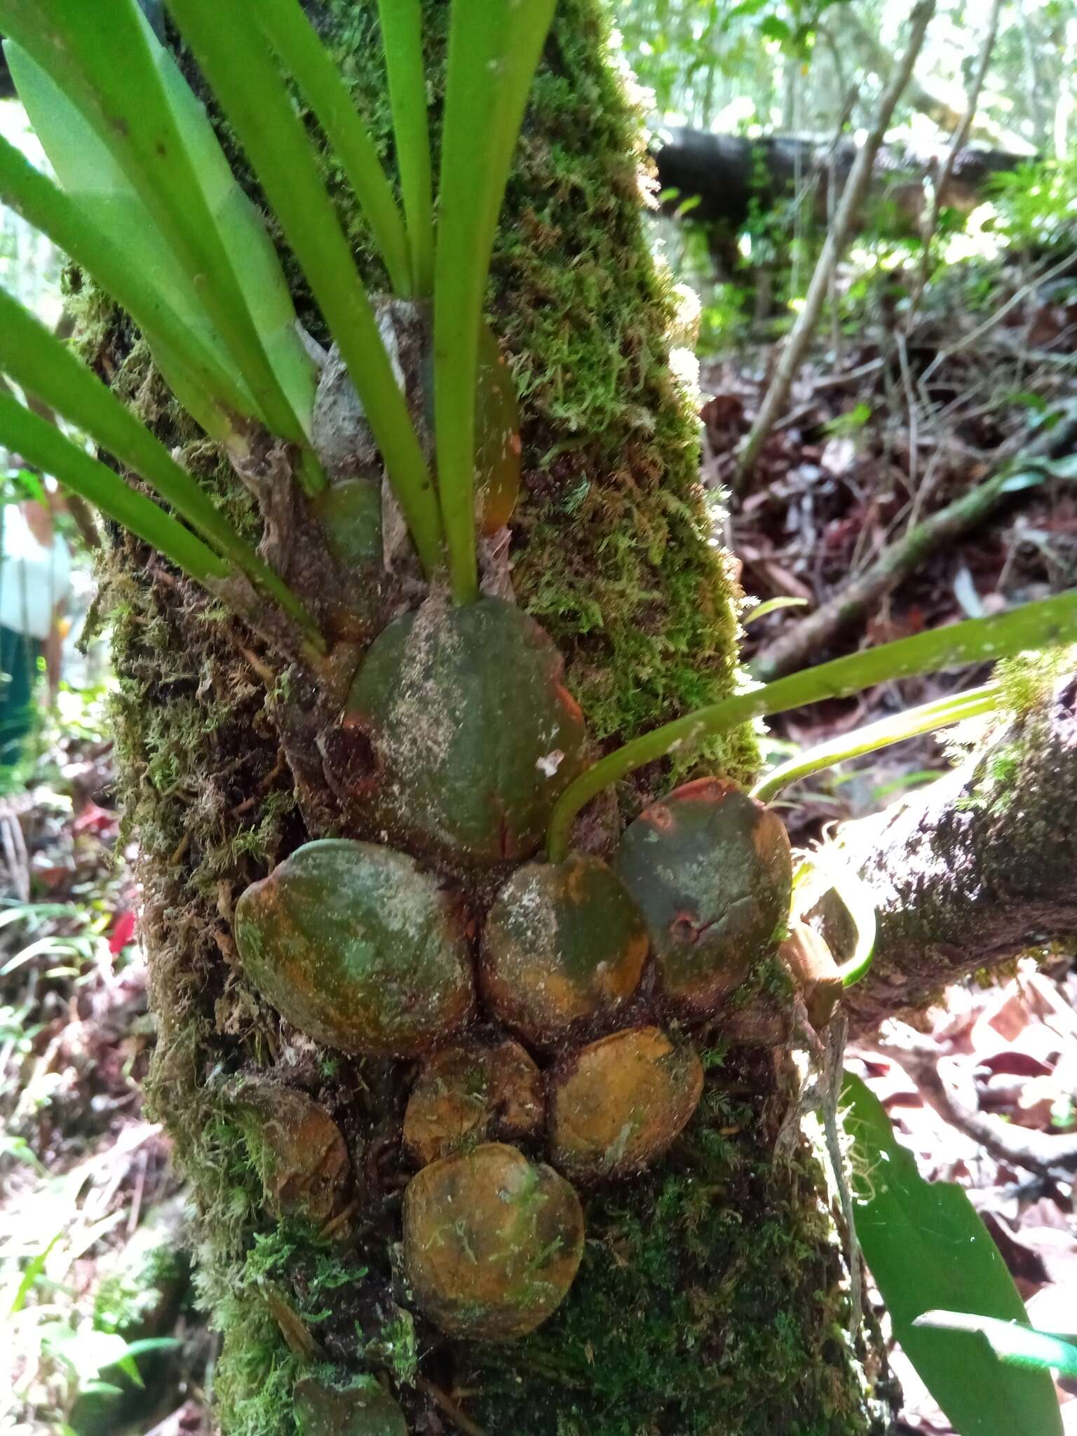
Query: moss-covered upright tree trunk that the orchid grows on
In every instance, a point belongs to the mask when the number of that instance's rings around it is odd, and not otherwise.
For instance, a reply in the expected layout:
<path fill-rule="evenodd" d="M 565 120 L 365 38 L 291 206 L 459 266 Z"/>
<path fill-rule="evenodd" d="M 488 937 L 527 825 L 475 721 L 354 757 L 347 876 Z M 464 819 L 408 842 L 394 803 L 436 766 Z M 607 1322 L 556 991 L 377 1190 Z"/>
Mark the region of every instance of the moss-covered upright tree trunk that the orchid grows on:
<path fill-rule="evenodd" d="M 437 121 L 447 6 L 426 0 L 424 11 Z M 330 0 L 312 14 L 388 151 L 373 0 Z M 524 414 L 513 586 L 564 653 L 596 744 L 714 701 L 735 679 L 735 590 L 696 487 L 692 399 L 669 365 L 673 306 L 643 236 L 640 154 L 600 6 L 561 0 L 517 152 L 488 310 Z M 241 172 L 241 157 L 233 158 Z M 362 225 L 339 177 L 330 169 L 327 178 L 362 258 Z M 378 284 L 372 266 L 369 279 Z M 300 317 L 325 337 L 299 281 L 296 294 Z M 250 498 L 177 411 L 136 336 L 92 296 L 82 307 L 98 366 L 256 530 Z M 704 1097 L 669 1155 L 638 1179 L 583 1190 L 583 1264 L 549 1323 L 497 1344 L 451 1341 L 422 1320 L 399 1269 L 412 1170 L 401 1116 L 414 1067 L 343 1057 L 302 1037 L 258 998 L 237 959 L 240 895 L 312 836 L 294 780 L 304 763 L 317 770 L 320 755 L 313 737 L 297 754 L 294 732 L 286 755 L 289 675 L 134 540 L 112 536 L 108 584 L 121 783 L 141 843 L 159 1018 L 151 1099 L 198 1202 L 201 1290 L 223 1333 L 215 1396 L 227 1436 L 296 1430 L 293 1391 L 310 1373 L 381 1380 L 415 1432 L 882 1429 L 882 1384 L 864 1377 L 856 1354 L 866 1353 L 853 1353 L 846 1334 L 841 1246 L 821 1172 L 807 1150 L 773 1156 L 793 1090 L 785 1057 L 741 1048 L 719 1060 L 717 1032 L 698 1034 Z M 676 761 L 678 775 L 742 777 L 751 735 Z M 619 793 L 619 817 L 606 811 L 593 841 L 672 777 L 648 773 Z M 346 1153 L 307 1129 L 287 1170 L 257 1139 L 257 1122 L 237 1119 L 228 1096 L 237 1074 L 287 1088 L 279 1122 L 287 1103 L 316 1099 Z"/>

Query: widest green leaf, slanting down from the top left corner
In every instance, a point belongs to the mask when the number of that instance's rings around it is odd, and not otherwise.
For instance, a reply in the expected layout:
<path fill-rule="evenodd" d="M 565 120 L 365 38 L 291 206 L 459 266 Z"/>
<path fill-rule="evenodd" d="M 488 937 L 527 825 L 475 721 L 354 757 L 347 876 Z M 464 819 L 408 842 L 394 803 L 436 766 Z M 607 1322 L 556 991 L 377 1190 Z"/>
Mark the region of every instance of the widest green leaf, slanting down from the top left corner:
<path fill-rule="evenodd" d="M 297 405 L 286 395 L 270 358 L 274 340 L 303 360 L 307 412 L 314 376 L 302 346 L 296 349 L 294 316 L 276 257 L 228 172 L 201 106 L 134 0 L 37 0 L 32 7 L 22 0 L 0 0 L 0 24 L 76 106 L 125 177 L 116 224 L 131 223 L 134 192 L 213 320 L 267 425 L 302 444 Z M 78 159 L 73 162 L 78 169 Z M 115 202 L 115 182 L 109 194 Z M 115 237 L 116 228 L 106 230 Z M 273 294 L 263 283 L 267 260 L 279 281 Z M 241 273 L 251 296 L 271 310 L 263 320 L 264 339 Z"/>

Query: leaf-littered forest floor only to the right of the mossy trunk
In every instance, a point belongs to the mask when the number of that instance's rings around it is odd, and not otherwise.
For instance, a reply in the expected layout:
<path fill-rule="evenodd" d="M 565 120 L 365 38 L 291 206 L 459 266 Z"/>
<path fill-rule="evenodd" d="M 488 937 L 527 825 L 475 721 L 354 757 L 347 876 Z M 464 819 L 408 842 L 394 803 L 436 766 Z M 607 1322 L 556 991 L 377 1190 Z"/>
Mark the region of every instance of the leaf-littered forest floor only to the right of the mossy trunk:
<path fill-rule="evenodd" d="M 740 494 L 728 493 L 735 448 L 760 408 L 777 350 L 761 346 L 704 366 L 704 475 L 714 491 L 725 491 L 725 544 L 751 600 L 787 605 L 755 623 L 748 615 L 750 665 L 765 665 L 778 640 L 796 642 L 806 616 L 827 606 L 834 612 L 857 586 L 866 590 L 863 610 L 823 642 L 813 638 L 790 666 L 1077 583 L 1077 442 L 1070 434 L 1048 462 L 1028 457 L 1030 448 L 1051 444 L 1053 426 L 1060 435 L 1068 431 L 1077 414 L 1077 284 L 1037 284 L 1014 270 L 992 289 L 987 314 L 964 297 L 936 300 L 908 336 L 885 312 L 854 337 L 820 336 L 785 419 Z M 910 561 L 909 533 L 999 472 L 1012 474 L 1010 491 Z M 875 582 L 883 570 L 890 576 Z M 987 676 L 987 669 L 966 669 L 887 684 L 783 715 L 768 725 L 771 757 L 781 761 Z M 793 841 L 808 844 L 830 826 L 899 801 L 948 767 L 945 734 L 915 738 L 816 774 L 787 788 L 775 806 Z M 1007 1160 L 1007 1152 L 1020 1153 L 1021 1129 L 1077 1130 L 1077 961 L 1022 961 L 1007 979 L 949 988 L 918 1028 L 887 1034 L 885 1054 L 850 1050 L 850 1066 L 883 1101 L 922 1175 L 969 1192 L 1034 1324 L 1071 1330 L 1073 1172 L 1035 1170 Z M 955 1126 L 952 1110 L 939 1110 L 935 1083 L 925 1081 L 936 1073 L 974 1090 L 979 1111 L 1004 1129 L 1001 1159 Z M 905 1390 L 902 1427 L 951 1436 L 900 1353 L 895 1366 Z M 1064 1383 L 1066 1427 L 1077 1432 L 1074 1397 L 1077 1383 Z"/>

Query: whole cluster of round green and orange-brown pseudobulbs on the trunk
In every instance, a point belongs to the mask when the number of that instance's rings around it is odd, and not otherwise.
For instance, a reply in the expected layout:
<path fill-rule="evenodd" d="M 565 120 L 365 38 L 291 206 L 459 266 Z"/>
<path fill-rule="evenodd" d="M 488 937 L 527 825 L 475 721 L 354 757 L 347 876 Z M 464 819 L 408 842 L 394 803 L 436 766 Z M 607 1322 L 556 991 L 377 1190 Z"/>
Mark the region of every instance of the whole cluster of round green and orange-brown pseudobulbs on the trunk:
<path fill-rule="evenodd" d="M 448 1335 L 513 1340 L 572 1287 L 579 1192 L 643 1170 L 692 1117 L 694 1031 L 721 1030 L 785 938 L 788 839 L 704 778 L 645 808 L 607 857 L 537 856 L 583 767 L 583 718 L 549 636 L 497 599 L 431 597 L 391 623 L 342 724 L 368 755 L 349 775 L 365 837 L 307 843 L 248 887 L 238 954 L 309 1038 L 416 1067 L 411 1294 Z M 323 1176 L 346 1167 L 312 1099 L 279 1088 L 273 1104 L 277 1127 L 296 1109 L 292 1142 L 302 1132 Z"/>

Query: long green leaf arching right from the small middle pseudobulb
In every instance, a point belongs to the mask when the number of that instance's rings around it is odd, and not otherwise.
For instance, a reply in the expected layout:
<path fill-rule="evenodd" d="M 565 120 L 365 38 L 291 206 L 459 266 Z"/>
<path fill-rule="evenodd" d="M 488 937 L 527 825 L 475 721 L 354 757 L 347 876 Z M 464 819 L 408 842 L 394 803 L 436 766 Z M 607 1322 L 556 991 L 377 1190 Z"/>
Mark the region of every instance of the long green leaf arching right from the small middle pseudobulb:
<path fill-rule="evenodd" d="M 985 663 L 1025 649 L 1054 648 L 1077 640 L 1077 589 L 1068 589 L 1053 599 L 1022 603 L 1010 613 L 985 619 L 968 619 L 929 633 L 882 643 L 863 653 L 836 658 L 830 663 L 801 669 L 788 678 L 735 694 L 709 708 L 699 708 L 626 742 L 600 758 L 569 784 L 550 817 L 547 852 L 551 863 L 569 854 L 572 826 L 580 808 L 612 783 L 648 763 L 665 758 L 675 748 L 701 738 L 729 732 L 754 718 L 801 708 L 824 698 L 847 698 L 850 694 L 873 688 L 876 684 L 939 669 Z"/>

